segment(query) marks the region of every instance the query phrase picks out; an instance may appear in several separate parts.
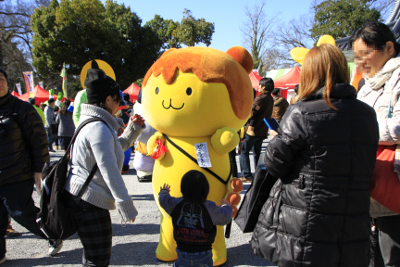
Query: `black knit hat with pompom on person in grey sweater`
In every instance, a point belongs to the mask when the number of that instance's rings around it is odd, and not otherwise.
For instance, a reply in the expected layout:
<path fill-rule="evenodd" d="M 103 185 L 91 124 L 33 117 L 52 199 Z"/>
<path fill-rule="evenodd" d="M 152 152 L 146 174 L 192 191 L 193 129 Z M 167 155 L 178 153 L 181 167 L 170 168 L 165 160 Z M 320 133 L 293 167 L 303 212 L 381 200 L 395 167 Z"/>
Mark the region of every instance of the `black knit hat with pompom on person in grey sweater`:
<path fill-rule="evenodd" d="M 105 101 L 107 96 L 119 94 L 118 83 L 99 69 L 95 60 L 92 60 L 92 68 L 87 71 L 84 85 L 89 104 Z"/>

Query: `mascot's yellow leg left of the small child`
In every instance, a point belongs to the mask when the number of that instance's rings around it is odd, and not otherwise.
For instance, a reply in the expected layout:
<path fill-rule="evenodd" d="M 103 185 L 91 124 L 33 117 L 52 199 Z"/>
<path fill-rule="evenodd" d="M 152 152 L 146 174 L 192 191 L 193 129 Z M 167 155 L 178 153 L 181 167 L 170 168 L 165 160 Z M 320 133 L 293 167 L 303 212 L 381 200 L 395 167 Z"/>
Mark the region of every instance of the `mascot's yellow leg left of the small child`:
<path fill-rule="evenodd" d="M 161 261 L 176 261 L 176 242 L 174 239 L 172 220 L 161 214 L 160 241 L 156 249 L 156 257 Z"/>

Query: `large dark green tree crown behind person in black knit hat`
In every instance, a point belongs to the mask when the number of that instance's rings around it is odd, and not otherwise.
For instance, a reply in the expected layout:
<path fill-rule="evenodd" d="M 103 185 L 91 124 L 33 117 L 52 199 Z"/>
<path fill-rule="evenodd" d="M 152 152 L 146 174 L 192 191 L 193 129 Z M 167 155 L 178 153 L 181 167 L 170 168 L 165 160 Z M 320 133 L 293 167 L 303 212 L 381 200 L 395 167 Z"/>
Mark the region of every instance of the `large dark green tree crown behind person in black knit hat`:
<path fill-rule="evenodd" d="M 162 45 L 129 7 L 107 0 L 52 0 L 31 17 L 33 60 L 43 77 L 79 75 L 89 60 L 102 59 L 114 69 L 121 89 L 145 75 Z"/>

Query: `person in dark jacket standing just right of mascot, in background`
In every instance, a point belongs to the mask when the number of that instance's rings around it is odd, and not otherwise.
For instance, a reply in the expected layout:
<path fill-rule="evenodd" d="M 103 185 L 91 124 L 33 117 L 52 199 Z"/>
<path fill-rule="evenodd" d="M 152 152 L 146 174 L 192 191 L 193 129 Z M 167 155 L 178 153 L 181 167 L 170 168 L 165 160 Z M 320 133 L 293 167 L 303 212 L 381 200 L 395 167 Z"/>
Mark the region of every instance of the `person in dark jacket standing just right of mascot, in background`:
<path fill-rule="evenodd" d="M 250 167 L 250 150 L 254 147 L 254 161 L 257 166 L 260 158 L 262 143 L 268 137 L 268 126 L 264 122 L 264 118 L 271 118 L 274 100 L 271 92 L 274 89 L 274 81 L 271 78 L 262 78 L 259 81 L 260 95 L 256 97 L 253 104 L 253 116 L 250 118 L 245 139 L 242 144 L 242 152 L 239 156 L 240 169 L 243 182 L 251 182 L 253 175 Z"/>

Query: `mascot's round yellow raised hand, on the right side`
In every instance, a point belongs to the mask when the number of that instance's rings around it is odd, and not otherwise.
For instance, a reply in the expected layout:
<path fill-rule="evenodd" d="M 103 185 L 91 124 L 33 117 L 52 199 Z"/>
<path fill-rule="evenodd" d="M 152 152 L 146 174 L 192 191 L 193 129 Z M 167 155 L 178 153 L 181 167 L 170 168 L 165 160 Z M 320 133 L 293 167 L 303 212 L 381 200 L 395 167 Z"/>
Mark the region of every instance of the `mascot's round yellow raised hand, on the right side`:
<path fill-rule="evenodd" d="M 229 127 L 218 129 L 211 136 L 211 145 L 218 154 L 227 154 L 239 144 L 239 135 Z"/>

